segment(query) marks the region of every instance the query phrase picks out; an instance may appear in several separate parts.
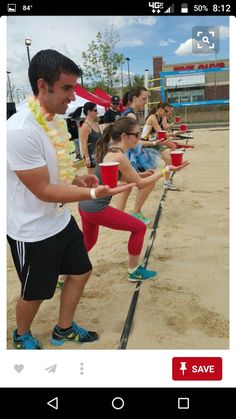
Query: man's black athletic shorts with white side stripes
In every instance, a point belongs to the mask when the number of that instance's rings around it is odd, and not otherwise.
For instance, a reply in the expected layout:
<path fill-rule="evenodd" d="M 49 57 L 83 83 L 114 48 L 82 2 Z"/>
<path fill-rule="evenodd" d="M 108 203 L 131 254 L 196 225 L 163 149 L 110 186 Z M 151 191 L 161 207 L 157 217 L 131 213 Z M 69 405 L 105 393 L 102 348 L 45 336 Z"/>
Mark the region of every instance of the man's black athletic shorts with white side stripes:
<path fill-rule="evenodd" d="M 21 242 L 7 237 L 21 281 L 24 300 L 52 298 L 58 276 L 81 275 L 92 269 L 83 233 L 75 219 L 60 233 L 38 242 Z"/>

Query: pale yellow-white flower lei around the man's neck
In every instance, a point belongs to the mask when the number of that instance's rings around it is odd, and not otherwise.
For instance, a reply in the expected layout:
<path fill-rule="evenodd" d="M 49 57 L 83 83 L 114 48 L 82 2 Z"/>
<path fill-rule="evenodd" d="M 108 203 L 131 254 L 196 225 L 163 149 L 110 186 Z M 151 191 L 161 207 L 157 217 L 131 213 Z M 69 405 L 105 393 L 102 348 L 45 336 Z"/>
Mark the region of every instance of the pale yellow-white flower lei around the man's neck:
<path fill-rule="evenodd" d="M 57 155 L 59 180 L 71 184 L 76 175 L 76 169 L 73 167 L 74 155 L 71 154 L 75 151 L 75 145 L 73 141 L 70 141 L 71 135 L 68 132 L 66 122 L 64 119 L 58 118 L 57 115 L 51 119 L 49 114 L 43 113 L 39 101 L 34 96 L 29 98 L 28 106 L 54 146 Z M 55 129 L 47 125 L 49 118 L 54 122 Z"/>

